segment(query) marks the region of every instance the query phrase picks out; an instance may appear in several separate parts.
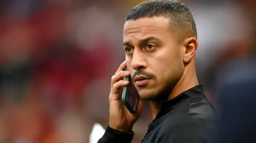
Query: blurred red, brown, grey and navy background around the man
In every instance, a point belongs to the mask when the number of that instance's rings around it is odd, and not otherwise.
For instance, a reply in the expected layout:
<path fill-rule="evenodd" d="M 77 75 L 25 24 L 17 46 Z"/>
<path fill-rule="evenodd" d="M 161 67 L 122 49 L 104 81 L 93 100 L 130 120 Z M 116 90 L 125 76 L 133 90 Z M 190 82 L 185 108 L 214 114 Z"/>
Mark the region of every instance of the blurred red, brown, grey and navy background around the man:
<path fill-rule="evenodd" d="M 84 143 L 95 123 L 106 127 L 111 76 L 125 60 L 124 19 L 140 2 L 0 1 L 0 142 Z M 220 111 L 218 142 L 250 139 L 256 1 L 182 2 L 197 24 L 199 82 Z M 133 142 L 141 142 L 151 122 L 144 108 Z"/>

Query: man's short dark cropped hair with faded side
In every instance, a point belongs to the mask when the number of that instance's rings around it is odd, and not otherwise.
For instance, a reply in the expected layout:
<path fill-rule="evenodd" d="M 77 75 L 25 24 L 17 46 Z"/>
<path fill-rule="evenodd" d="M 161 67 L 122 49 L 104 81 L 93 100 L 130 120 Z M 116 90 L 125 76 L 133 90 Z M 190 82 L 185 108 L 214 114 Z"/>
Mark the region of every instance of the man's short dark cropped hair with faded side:
<path fill-rule="evenodd" d="M 197 38 L 192 12 L 185 4 L 177 0 L 150 0 L 140 3 L 130 10 L 125 20 L 153 17 L 169 18 L 171 32 L 179 34 L 177 35 L 178 41 L 187 36 Z"/>

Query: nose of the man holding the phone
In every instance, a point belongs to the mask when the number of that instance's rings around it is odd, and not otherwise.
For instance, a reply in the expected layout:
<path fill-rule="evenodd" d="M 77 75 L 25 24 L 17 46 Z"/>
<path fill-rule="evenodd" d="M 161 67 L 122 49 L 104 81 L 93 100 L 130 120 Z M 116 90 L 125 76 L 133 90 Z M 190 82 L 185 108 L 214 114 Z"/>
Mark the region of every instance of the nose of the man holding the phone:
<path fill-rule="evenodd" d="M 131 66 L 134 70 L 144 70 L 147 68 L 146 58 L 143 54 L 143 51 L 140 51 L 138 48 L 135 48 L 133 51 L 133 59 Z"/>

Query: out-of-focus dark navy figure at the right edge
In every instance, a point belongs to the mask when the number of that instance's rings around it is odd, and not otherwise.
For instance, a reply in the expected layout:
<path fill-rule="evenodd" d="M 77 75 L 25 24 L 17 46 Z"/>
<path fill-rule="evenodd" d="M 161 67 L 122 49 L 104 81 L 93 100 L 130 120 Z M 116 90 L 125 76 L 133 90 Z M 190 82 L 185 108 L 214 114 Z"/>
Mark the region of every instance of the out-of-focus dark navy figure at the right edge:
<path fill-rule="evenodd" d="M 256 142 L 256 58 L 225 64 L 218 98 L 218 143 Z"/>

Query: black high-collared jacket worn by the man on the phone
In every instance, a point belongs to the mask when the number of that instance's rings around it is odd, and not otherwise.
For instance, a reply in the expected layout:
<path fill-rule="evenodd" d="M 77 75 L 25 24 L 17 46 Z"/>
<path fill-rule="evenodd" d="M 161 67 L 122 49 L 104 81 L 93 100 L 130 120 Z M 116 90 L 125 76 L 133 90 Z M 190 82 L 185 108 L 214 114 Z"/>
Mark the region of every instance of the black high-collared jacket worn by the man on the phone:
<path fill-rule="evenodd" d="M 216 134 L 215 110 L 197 85 L 169 101 L 162 101 L 156 119 L 149 124 L 142 142 L 208 143 Z M 134 133 L 107 127 L 98 143 L 131 142 Z"/>

